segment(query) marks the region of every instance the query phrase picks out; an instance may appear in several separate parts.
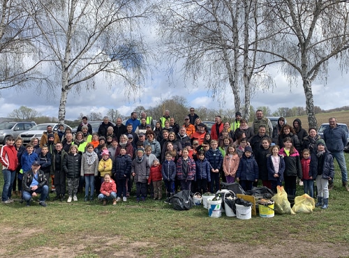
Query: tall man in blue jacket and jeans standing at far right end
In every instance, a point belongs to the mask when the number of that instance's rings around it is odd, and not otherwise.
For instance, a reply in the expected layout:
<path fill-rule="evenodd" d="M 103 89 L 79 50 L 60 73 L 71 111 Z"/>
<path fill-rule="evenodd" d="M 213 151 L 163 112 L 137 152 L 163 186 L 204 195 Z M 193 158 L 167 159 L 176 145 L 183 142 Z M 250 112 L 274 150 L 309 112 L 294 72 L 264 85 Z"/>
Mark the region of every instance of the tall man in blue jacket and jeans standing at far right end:
<path fill-rule="evenodd" d="M 327 149 L 332 153 L 333 158 L 336 158 L 342 174 L 342 185 L 349 191 L 346 159 L 344 158 L 343 149 L 348 143 L 346 132 L 337 125 L 337 120 L 334 117 L 329 118 L 329 128 L 324 130 L 324 140 Z M 333 188 L 333 179 L 329 181 L 329 189 Z"/>

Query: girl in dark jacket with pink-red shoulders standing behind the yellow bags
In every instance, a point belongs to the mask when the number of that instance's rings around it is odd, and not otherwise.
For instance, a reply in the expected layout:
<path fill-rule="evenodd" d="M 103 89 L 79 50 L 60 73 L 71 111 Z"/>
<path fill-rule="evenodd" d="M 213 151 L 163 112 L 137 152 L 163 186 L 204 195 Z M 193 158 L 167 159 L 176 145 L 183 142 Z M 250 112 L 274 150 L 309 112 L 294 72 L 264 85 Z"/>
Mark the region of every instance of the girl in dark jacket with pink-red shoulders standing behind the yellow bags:
<path fill-rule="evenodd" d="M 283 155 L 285 160 L 285 172 L 283 173 L 283 179 L 285 181 L 285 191 L 288 195 L 296 195 L 297 189 L 297 176 L 302 179 L 302 165 L 299 159 L 299 153 L 297 149 L 292 145 L 292 139 L 285 137 L 283 139 L 284 147 L 279 151 L 280 155 Z"/>

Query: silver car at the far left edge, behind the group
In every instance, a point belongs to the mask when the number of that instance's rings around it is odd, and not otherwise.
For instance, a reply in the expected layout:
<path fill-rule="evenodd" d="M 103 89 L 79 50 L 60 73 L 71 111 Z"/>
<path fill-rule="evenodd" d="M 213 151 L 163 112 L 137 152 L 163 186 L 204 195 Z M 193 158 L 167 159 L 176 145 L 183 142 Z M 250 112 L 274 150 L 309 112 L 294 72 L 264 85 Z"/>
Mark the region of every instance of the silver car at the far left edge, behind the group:
<path fill-rule="evenodd" d="M 25 132 L 36 126 L 34 121 L 20 121 L 20 122 L 2 122 L 0 123 L 0 143 L 6 144 L 8 137 L 18 137 L 22 132 Z"/>

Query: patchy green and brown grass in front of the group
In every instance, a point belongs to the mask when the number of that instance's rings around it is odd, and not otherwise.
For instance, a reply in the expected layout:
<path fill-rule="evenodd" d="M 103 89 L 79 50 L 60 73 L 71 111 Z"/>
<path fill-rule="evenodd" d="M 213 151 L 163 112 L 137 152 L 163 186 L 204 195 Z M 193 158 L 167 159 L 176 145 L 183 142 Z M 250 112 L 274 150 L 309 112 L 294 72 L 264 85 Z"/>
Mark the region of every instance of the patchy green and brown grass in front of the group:
<path fill-rule="evenodd" d="M 348 160 L 349 155 L 346 154 Z M 336 162 L 335 162 L 336 164 Z M 3 179 L 0 179 L 2 190 Z M 297 189 L 302 195 L 302 188 Z M 1 257 L 349 257 L 349 192 L 336 165 L 329 208 L 311 214 L 209 218 L 147 200 L 1 204 Z"/>

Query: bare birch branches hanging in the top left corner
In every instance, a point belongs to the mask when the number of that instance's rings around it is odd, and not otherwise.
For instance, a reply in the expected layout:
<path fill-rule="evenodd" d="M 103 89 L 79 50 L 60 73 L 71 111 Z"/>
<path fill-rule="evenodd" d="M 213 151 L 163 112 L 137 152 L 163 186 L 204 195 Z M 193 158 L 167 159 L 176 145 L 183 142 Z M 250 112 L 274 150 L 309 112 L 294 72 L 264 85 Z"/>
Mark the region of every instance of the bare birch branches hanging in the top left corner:
<path fill-rule="evenodd" d="M 0 0 L 0 89 L 38 85 L 45 80 L 40 70 L 38 34 L 22 0 Z"/>

